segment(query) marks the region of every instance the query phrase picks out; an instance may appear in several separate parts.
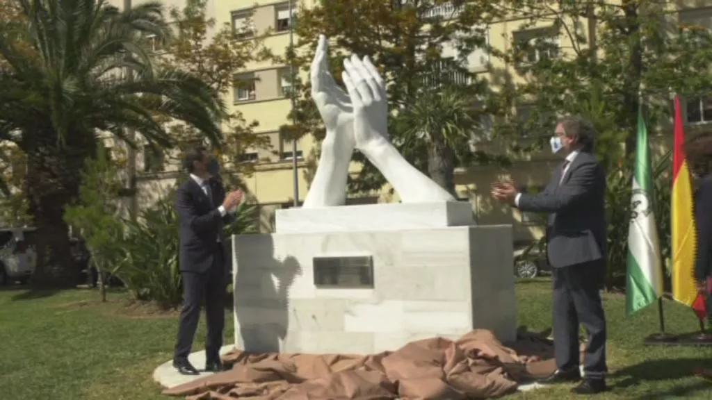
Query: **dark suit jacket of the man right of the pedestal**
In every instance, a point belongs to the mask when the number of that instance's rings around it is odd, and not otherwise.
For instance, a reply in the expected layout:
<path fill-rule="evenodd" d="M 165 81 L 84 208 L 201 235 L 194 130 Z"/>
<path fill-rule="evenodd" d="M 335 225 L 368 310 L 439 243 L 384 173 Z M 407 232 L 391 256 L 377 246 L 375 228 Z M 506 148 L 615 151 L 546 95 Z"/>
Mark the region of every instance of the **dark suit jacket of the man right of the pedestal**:
<path fill-rule="evenodd" d="M 563 164 L 562 164 L 563 165 Z M 604 260 L 606 176 L 595 155 L 580 152 L 561 178 L 561 166 L 540 194 L 522 194 L 521 211 L 548 213 L 547 256 L 553 268 Z"/>

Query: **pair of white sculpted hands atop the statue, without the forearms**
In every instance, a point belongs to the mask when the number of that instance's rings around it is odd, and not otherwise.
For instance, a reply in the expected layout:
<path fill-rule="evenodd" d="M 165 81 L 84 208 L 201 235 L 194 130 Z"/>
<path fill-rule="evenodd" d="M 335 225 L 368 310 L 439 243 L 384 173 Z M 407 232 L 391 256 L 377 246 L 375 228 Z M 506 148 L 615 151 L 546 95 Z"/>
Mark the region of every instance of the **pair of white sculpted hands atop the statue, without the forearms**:
<path fill-rule="evenodd" d="M 344 60 L 342 80 L 345 92 L 329 70 L 328 42 L 319 37 L 311 65 L 312 98 L 324 121 L 323 148 L 335 157 L 350 159 L 353 149 L 367 153 L 369 147 L 388 142 L 388 102 L 386 85 L 368 57 Z"/>

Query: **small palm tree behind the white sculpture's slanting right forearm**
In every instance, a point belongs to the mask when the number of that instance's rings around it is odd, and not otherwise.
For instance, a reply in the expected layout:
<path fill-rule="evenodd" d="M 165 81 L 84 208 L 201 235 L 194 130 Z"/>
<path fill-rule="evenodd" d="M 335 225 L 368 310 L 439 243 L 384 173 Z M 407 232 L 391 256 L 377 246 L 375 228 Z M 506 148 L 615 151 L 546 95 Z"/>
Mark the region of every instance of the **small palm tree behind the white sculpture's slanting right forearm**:
<path fill-rule="evenodd" d="M 468 148 L 476 115 L 472 96 L 446 85 L 422 90 L 397 117 L 403 127 L 404 147 L 425 147 L 429 177 L 455 197 L 457 153 Z"/>

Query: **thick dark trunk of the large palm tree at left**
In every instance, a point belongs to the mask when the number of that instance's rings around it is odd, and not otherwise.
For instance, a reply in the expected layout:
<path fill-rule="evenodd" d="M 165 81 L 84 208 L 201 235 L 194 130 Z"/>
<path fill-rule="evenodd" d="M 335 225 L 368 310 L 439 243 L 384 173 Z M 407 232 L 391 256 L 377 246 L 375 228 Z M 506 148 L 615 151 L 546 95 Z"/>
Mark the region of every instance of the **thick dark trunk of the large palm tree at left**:
<path fill-rule="evenodd" d="M 32 284 L 40 289 L 74 288 L 78 271 L 70 251 L 64 208 L 78 195 L 85 159 L 95 154 L 93 135 L 77 134 L 61 146 L 48 132 L 28 132 L 23 144 L 30 214 L 37 228 Z"/>

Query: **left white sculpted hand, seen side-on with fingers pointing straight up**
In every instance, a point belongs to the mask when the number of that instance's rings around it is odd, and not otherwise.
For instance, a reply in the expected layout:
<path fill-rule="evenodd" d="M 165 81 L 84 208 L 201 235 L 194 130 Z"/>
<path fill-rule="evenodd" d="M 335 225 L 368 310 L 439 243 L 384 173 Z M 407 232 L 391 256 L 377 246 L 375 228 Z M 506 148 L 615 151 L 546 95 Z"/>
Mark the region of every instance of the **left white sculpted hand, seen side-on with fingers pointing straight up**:
<path fill-rule="evenodd" d="M 312 98 L 326 127 L 325 145 L 335 145 L 345 157 L 355 146 L 353 107 L 349 96 L 335 82 L 329 71 L 329 43 L 319 36 L 319 44 L 311 65 Z"/>

